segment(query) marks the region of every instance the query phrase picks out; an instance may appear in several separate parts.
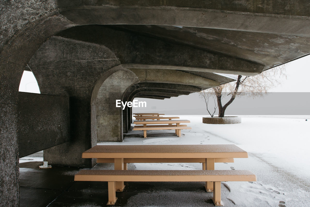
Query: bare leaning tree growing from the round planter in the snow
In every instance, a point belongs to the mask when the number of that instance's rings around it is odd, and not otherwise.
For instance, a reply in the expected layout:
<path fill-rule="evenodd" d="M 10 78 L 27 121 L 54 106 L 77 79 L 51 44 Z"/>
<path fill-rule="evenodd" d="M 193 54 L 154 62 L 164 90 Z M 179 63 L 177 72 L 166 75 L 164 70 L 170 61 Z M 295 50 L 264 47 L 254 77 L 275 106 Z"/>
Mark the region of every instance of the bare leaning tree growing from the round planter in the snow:
<path fill-rule="evenodd" d="M 219 117 L 224 117 L 224 113 L 226 108 L 233 102 L 236 96 L 250 96 L 257 97 L 263 96 L 268 92 L 269 89 L 279 85 L 280 82 L 277 80 L 278 78 L 285 77 L 286 75 L 283 73 L 285 71 L 285 66 L 281 65 L 278 67 L 274 67 L 267 71 L 263 71 L 261 74 L 256 76 L 241 76 L 238 75 L 237 80 L 226 83 L 223 85 L 219 85 L 218 87 L 206 89 L 200 92 L 200 96 L 205 99 L 208 110 L 208 103 L 210 97 L 215 97 L 214 100 L 217 100 L 217 104 L 215 104 L 215 108 L 219 108 Z M 227 96 L 231 96 L 226 104 L 222 104 L 222 99 L 224 92 L 227 93 Z M 215 113 L 215 111 L 214 111 Z M 211 117 L 214 116 L 214 113 Z"/>

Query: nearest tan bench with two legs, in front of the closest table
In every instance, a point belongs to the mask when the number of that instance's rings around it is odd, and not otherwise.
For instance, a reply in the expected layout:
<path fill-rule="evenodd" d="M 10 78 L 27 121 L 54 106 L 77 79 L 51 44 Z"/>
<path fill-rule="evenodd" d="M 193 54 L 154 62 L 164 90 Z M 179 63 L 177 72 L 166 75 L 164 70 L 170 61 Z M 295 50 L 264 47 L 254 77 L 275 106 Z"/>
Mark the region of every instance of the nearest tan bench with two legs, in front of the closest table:
<path fill-rule="evenodd" d="M 256 181 L 256 176 L 248 170 L 81 170 L 74 181 L 108 182 L 108 203 L 114 205 L 115 182 L 213 182 L 212 201 L 221 206 L 221 182 Z"/>

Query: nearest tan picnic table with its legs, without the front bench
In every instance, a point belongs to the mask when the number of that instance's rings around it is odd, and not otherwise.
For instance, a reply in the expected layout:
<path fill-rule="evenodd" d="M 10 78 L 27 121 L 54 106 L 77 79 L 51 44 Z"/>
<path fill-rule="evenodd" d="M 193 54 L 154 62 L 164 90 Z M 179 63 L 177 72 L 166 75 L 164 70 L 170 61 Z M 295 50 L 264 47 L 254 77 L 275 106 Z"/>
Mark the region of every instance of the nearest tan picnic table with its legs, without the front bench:
<path fill-rule="evenodd" d="M 204 170 L 214 170 L 215 162 L 247 157 L 236 145 L 96 145 L 82 153 L 82 158 L 96 158 L 98 163 L 114 162 L 115 170 L 126 170 L 127 163 L 138 162 L 204 163 Z M 124 187 L 124 182 L 116 182 L 117 191 Z M 206 182 L 205 188 L 213 191 L 213 182 Z"/>

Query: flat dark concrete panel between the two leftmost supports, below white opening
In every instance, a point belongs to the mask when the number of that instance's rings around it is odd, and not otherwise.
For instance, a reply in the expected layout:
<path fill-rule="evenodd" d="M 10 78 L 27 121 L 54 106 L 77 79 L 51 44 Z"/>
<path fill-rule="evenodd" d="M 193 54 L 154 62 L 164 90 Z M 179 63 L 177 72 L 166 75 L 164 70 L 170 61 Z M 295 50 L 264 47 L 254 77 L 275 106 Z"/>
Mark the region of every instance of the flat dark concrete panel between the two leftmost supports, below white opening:
<path fill-rule="evenodd" d="M 19 92 L 19 157 L 70 140 L 69 97 Z"/>

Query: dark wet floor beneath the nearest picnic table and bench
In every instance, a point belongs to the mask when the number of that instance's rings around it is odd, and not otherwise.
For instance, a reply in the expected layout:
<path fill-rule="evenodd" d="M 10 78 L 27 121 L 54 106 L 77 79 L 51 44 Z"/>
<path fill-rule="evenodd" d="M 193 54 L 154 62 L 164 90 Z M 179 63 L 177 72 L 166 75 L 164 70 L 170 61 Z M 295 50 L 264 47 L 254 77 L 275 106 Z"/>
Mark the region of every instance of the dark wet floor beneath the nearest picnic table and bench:
<path fill-rule="evenodd" d="M 107 182 L 74 182 L 78 168 L 20 163 L 20 206 L 106 206 Z M 113 169 L 101 163 L 96 168 Z M 133 165 L 129 165 L 132 168 Z M 115 206 L 214 206 L 204 182 L 125 182 Z M 133 199 L 130 199 L 133 198 Z"/>

